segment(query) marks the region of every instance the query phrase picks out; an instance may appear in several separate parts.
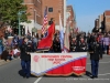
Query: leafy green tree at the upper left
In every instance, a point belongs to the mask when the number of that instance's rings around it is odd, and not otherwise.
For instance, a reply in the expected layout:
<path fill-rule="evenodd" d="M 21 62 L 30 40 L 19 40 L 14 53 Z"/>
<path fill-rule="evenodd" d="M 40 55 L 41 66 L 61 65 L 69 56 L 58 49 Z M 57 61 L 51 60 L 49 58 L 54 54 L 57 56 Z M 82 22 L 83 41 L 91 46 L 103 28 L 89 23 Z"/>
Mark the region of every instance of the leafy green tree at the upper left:
<path fill-rule="evenodd" d="M 25 11 L 21 14 L 21 21 L 26 22 L 26 6 L 22 4 L 23 0 L 0 0 L 0 20 L 12 28 L 18 27 L 18 12 Z"/>

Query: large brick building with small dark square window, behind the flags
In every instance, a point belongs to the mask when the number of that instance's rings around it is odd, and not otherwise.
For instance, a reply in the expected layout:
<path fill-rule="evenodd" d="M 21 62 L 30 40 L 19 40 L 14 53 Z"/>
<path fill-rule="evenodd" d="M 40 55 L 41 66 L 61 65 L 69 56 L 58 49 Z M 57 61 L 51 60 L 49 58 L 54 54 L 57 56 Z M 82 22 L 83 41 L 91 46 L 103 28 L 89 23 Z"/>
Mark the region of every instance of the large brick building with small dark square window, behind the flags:
<path fill-rule="evenodd" d="M 47 7 L 48 21 L 51 18 L 55 18 L 56 30 L 59 30 L 59 11 L 63 25 L 66 27 L 66 0 L 23 0 L 23 4 L 28 7 L 26 12 L 31 13 L 28 17 L 31 23 L 21 23 L 25 28 L 25 33 L 28 33 L 28 28 L 30 31 L 36 28 L 41 33 L 45 7 Z"/>

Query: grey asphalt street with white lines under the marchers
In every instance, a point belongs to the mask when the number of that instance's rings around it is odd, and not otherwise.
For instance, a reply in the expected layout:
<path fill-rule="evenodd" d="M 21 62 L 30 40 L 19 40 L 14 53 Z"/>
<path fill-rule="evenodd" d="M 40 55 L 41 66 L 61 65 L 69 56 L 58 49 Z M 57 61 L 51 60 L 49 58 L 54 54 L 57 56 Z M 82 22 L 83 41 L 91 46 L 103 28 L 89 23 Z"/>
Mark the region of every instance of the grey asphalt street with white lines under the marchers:
<path fill-rule="evenodd" d="M 82 76 L 66 76 L 66 77 L 54 77 L 54 76 L 31 76 L 24 79 L 22 76 L 20 59 L 13 60 L 7 64 L 0 66 L 0 83 L 109 83 L 110 82 L 110 56 L 103 55 L 99 64 L 99 77 L 90 79 L 90 60 L 87 59 L 87 73 Z"/>

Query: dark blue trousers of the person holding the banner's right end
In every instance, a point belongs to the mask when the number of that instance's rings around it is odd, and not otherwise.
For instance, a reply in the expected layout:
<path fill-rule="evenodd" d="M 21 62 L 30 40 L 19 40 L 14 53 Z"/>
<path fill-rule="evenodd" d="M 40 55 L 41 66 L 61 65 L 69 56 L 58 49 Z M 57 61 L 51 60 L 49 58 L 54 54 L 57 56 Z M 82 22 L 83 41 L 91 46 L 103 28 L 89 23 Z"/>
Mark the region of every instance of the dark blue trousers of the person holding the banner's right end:
<path fill-rule="evenodd" d="M 91 60 L 91 74 L 98 76 L 99 60 Z"/>

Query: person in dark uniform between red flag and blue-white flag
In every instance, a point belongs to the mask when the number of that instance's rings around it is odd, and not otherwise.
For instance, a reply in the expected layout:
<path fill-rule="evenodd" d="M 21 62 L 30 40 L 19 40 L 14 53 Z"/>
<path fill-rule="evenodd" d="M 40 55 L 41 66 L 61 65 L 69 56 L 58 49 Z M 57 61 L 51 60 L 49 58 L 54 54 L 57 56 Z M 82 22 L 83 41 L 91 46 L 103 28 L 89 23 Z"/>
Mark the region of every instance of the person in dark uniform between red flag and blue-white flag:
<path fill-rule="evenodd" d="M 53 41 L 53 51 L 57 52 L 57 53 L 62 52 L 62 50 L 61 50 L 61 41 L 59 41 L 58 37 L 56 37 L 54 39 L 54 41 Z"/>

